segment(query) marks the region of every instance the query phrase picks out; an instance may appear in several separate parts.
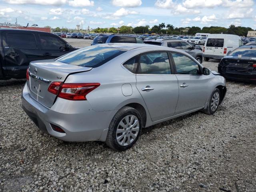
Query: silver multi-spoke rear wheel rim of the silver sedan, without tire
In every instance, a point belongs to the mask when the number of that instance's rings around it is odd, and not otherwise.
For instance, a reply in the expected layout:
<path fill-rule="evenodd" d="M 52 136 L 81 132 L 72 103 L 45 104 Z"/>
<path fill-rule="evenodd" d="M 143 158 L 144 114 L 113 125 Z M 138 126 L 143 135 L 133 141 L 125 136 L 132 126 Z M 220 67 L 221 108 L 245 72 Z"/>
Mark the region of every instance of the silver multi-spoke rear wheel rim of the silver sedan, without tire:
<path fill-rule="evenodd" d="M 116 141 L 121 146 L 130 145 L 137 138 L 140 123 L 135 115 L 125 116 L 116 129 Z"/>

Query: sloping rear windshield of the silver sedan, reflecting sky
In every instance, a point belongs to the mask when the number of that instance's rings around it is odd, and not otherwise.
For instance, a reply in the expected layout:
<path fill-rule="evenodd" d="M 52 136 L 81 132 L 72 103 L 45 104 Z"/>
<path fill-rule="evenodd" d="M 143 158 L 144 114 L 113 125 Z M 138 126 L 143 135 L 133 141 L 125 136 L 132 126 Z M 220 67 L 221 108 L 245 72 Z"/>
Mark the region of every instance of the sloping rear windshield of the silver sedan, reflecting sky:
<path fill-rule="evenodd" d="M 70 54 L 57 59 L 57 61 L 76 66 L 95 68 L 126 51 L 127 50 L 115 47 L 90 46 L 71 52 Z"/>

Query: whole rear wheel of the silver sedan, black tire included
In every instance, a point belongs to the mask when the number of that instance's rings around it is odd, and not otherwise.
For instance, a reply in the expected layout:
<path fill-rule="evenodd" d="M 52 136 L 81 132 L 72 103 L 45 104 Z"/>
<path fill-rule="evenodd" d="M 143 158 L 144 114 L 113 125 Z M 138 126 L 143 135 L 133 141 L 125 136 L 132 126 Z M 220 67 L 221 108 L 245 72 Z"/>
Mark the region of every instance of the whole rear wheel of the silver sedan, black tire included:
<path fill-rule="evenodd" d="M 137 124 L 135 124 L 136 120 Z M 142 130 L 141 120 L 141 114 L 136 109 L 128 106 L 121 108 L 115 114 L 109 125 L 106 144 L 117 151 L 124 151 L 131 148 L 140 136 Z M 135 127 L 132 128 L 131 124 L 135 124 Z"/>

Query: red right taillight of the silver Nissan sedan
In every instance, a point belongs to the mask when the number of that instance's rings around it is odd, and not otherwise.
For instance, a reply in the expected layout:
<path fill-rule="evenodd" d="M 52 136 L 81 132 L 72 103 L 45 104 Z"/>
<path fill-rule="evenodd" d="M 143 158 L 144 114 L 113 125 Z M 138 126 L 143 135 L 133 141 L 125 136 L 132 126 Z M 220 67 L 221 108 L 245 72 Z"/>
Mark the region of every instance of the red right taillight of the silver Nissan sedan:
<path fill-rule="evenodd" d="M 67 100 L 87 100 L 86 95 L 100 86 L 99 83 L 61 83 L 52 82 L 48 91 Z"/>

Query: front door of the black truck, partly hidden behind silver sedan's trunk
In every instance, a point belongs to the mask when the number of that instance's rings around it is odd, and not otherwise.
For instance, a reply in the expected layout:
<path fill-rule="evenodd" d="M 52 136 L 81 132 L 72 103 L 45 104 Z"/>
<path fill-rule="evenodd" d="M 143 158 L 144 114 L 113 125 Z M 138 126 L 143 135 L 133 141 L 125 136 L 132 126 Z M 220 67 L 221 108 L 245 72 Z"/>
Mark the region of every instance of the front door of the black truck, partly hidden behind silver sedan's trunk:
<path fill-rule="evenodd" d="M 54 59 L 73 51 L 73 48 L 66 47 L 66 42 L 58 36 L 39 34 L 41 59 Z"/>

